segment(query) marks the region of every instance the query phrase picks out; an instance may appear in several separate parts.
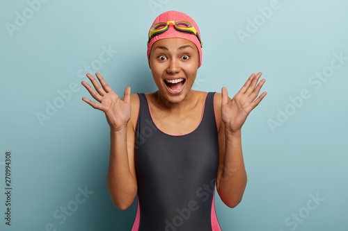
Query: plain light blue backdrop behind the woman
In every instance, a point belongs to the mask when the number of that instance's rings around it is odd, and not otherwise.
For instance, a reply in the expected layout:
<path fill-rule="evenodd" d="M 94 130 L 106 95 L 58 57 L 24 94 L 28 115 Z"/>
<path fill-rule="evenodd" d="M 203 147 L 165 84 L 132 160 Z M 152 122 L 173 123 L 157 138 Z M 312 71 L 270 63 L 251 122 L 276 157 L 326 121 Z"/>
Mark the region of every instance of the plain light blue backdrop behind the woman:
<path fill-rule="evenodd" d="M 155 91 L 147 35 L 167 10 L 187 13 L 200 27 L 203 65 L 194 89 L 225 86 L 232 98 L 251 74 L 261 71 L 266 79 L 268 94 L 242 128 L 248 175 L 242 203 L 230 209 L 216 194 L 222 230 L 348 230 L 347 9 L 343 0 L 1 1 L 0 230 L 39 231 L 49 223 L 66 231 L 131 229 L 136 202 L 125 211 L 111 202 L 109 126 L 103 112 L 81 101 L 91 97 L 80 83 L 90 66 L 119 95 L 127 86 L 132 93 Z M 17 19 L 23 15 L 25 21 Z M 100 60 L 103 47 L 112 50 L 102 56 L 107 62 Z M 326 80 L 315 77 L 323 71 Z M 40 122 L 47 103 L 60 108 Z M 6 151 L 12 152 L 10 227 Z M 85 187 L 90 195 L 77 204 Z M 55 219 L 67 205 L 74 212 Z"/>

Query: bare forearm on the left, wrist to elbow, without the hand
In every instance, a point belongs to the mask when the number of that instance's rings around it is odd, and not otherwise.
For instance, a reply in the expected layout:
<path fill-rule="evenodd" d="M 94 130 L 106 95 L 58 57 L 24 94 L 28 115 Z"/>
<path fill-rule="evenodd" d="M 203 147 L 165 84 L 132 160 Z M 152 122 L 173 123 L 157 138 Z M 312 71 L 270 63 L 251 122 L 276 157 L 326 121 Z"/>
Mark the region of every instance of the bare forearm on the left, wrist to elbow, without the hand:
<path fill-rule="evenodd" d="M 129 170 L 127 155 L 127 128 L 110 131 L 110 159 L 106 184 L 113 204 L 127 209 L 136 196 L 136 184 Z"/>

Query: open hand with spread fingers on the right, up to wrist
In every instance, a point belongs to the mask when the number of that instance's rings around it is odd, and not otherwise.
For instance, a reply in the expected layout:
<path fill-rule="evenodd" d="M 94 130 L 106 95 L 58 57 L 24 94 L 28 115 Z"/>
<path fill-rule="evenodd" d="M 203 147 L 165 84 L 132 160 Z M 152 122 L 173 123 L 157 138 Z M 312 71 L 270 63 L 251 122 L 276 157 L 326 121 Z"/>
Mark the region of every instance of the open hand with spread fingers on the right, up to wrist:
<path fill-rule="evenodd" d="M 239 132 L 248 114 L 261 102 L 264 96 L 266 96 L 267 92 L 263 92 L 258 99 L 255 100 L 262 85 L 266 81 L 262 79 L 260 83 L 258 83 L 258 79 L 261 75 L 261 72 L 257 75 L 252 74 L 232 100 L 228 99 L 226 87 L 221 89 L 221 119 L 223 123 L 225 123 L 226 132 Z M 258 86 L 256 86 L 257 83 Z"/>

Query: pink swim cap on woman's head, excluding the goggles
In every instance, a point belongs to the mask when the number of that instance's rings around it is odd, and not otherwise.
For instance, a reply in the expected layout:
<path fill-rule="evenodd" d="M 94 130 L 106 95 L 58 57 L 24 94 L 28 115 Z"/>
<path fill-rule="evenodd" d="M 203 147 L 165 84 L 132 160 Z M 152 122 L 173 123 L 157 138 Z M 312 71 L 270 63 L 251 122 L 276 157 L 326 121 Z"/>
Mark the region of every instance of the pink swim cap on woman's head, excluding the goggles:
<path fill-rule="evenodd" d="M 198 26 L 196 24 L 196 22 L 193 21 L 193 19 L 191 19 L 191 17 L 189 17 L 189 15 L 185 15 L 182 12 L 178 12 L 178 11 L 167 11 L 162 13 L 161 15 L 159 15 L 155 21 L 152 23 L 150 30 L 152 28 L 152 26 L 154 24 L 157 24 L 159 22 L 168 22 L 168 21 L 187 21 L 190 22 L 191 25 L 196 29 L 198 35 L 200 36 L 200 31 L 198 29 Z M 150 30 L 148 35 L 150 34 Z M 184 38 L 186 40 L 190 40 L 191 42 L 193 42 L 194 44 L 196 44 L 197 49 L 198 49 L 198 53 L 199 53 L 199 67 L 200 65 L 202 65 L 202 47 L 200 46 L 200 42 L 198 40 L 198 38 L 196 37 L 196 35 L 191 34 L 191 33 L 183 33 L 180 31 L 175 30 L 173 24 L 169 24 L 169 28 L 166 32 L 161 33 L 159 35 L 155 35 L 154 37 L 151 38 L 149 45 L 148 45 L 148 62 L 149 62 L 149 67 L 150 67 L 150 51 L 151 51 L 151 47 L 152 44 L 154 44 L 157 40 L 162 40 L 165 38 L 171 38 L 171 37 L 180 37 L 180 38 Z M 200 37 L 201 38 L 201 37 Z M 198 67 L 198 68 L 199 68 Z"/>

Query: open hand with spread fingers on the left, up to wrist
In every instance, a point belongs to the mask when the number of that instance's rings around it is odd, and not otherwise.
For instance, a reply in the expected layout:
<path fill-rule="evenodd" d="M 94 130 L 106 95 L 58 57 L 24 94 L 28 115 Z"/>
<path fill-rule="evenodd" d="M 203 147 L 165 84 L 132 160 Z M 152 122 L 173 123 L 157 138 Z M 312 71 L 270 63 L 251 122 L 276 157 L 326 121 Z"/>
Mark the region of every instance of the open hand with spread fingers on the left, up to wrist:
<path fill-rule="evenodd" d="M 109 87 L 99 73 L 96 73 L 95 76 L 97 76 L 102 86 L 99 85 L 97 80 L 95 80 L 92 75 L 86 74 L 86 76 L 90 79 L 90 82 L 93 83 L 93 86 L 97 92 L 95 92 L 93 87 L 90 87 L 90 85 L 88 85 L 88 83 L 85 81 L 82 81 L 81 84 L 86 87 L 90 95 L 93 96 L 93 98 L 99 103 L 90 101 L 90 99 L 87 99 L 86 97 L 82 98 L 82 100 L 91 105 L 93 108 L 101 110 L 105 113 L 106 120 L 108 121 L 111 130 L 120 131 L 122 129 L 127 129 L 127 123 L 131 114 L 131 88 L 127 87 L 125 89 L 125 97 L 122 100 L 115 92 L 113 92 L 111 87 Z"/>

